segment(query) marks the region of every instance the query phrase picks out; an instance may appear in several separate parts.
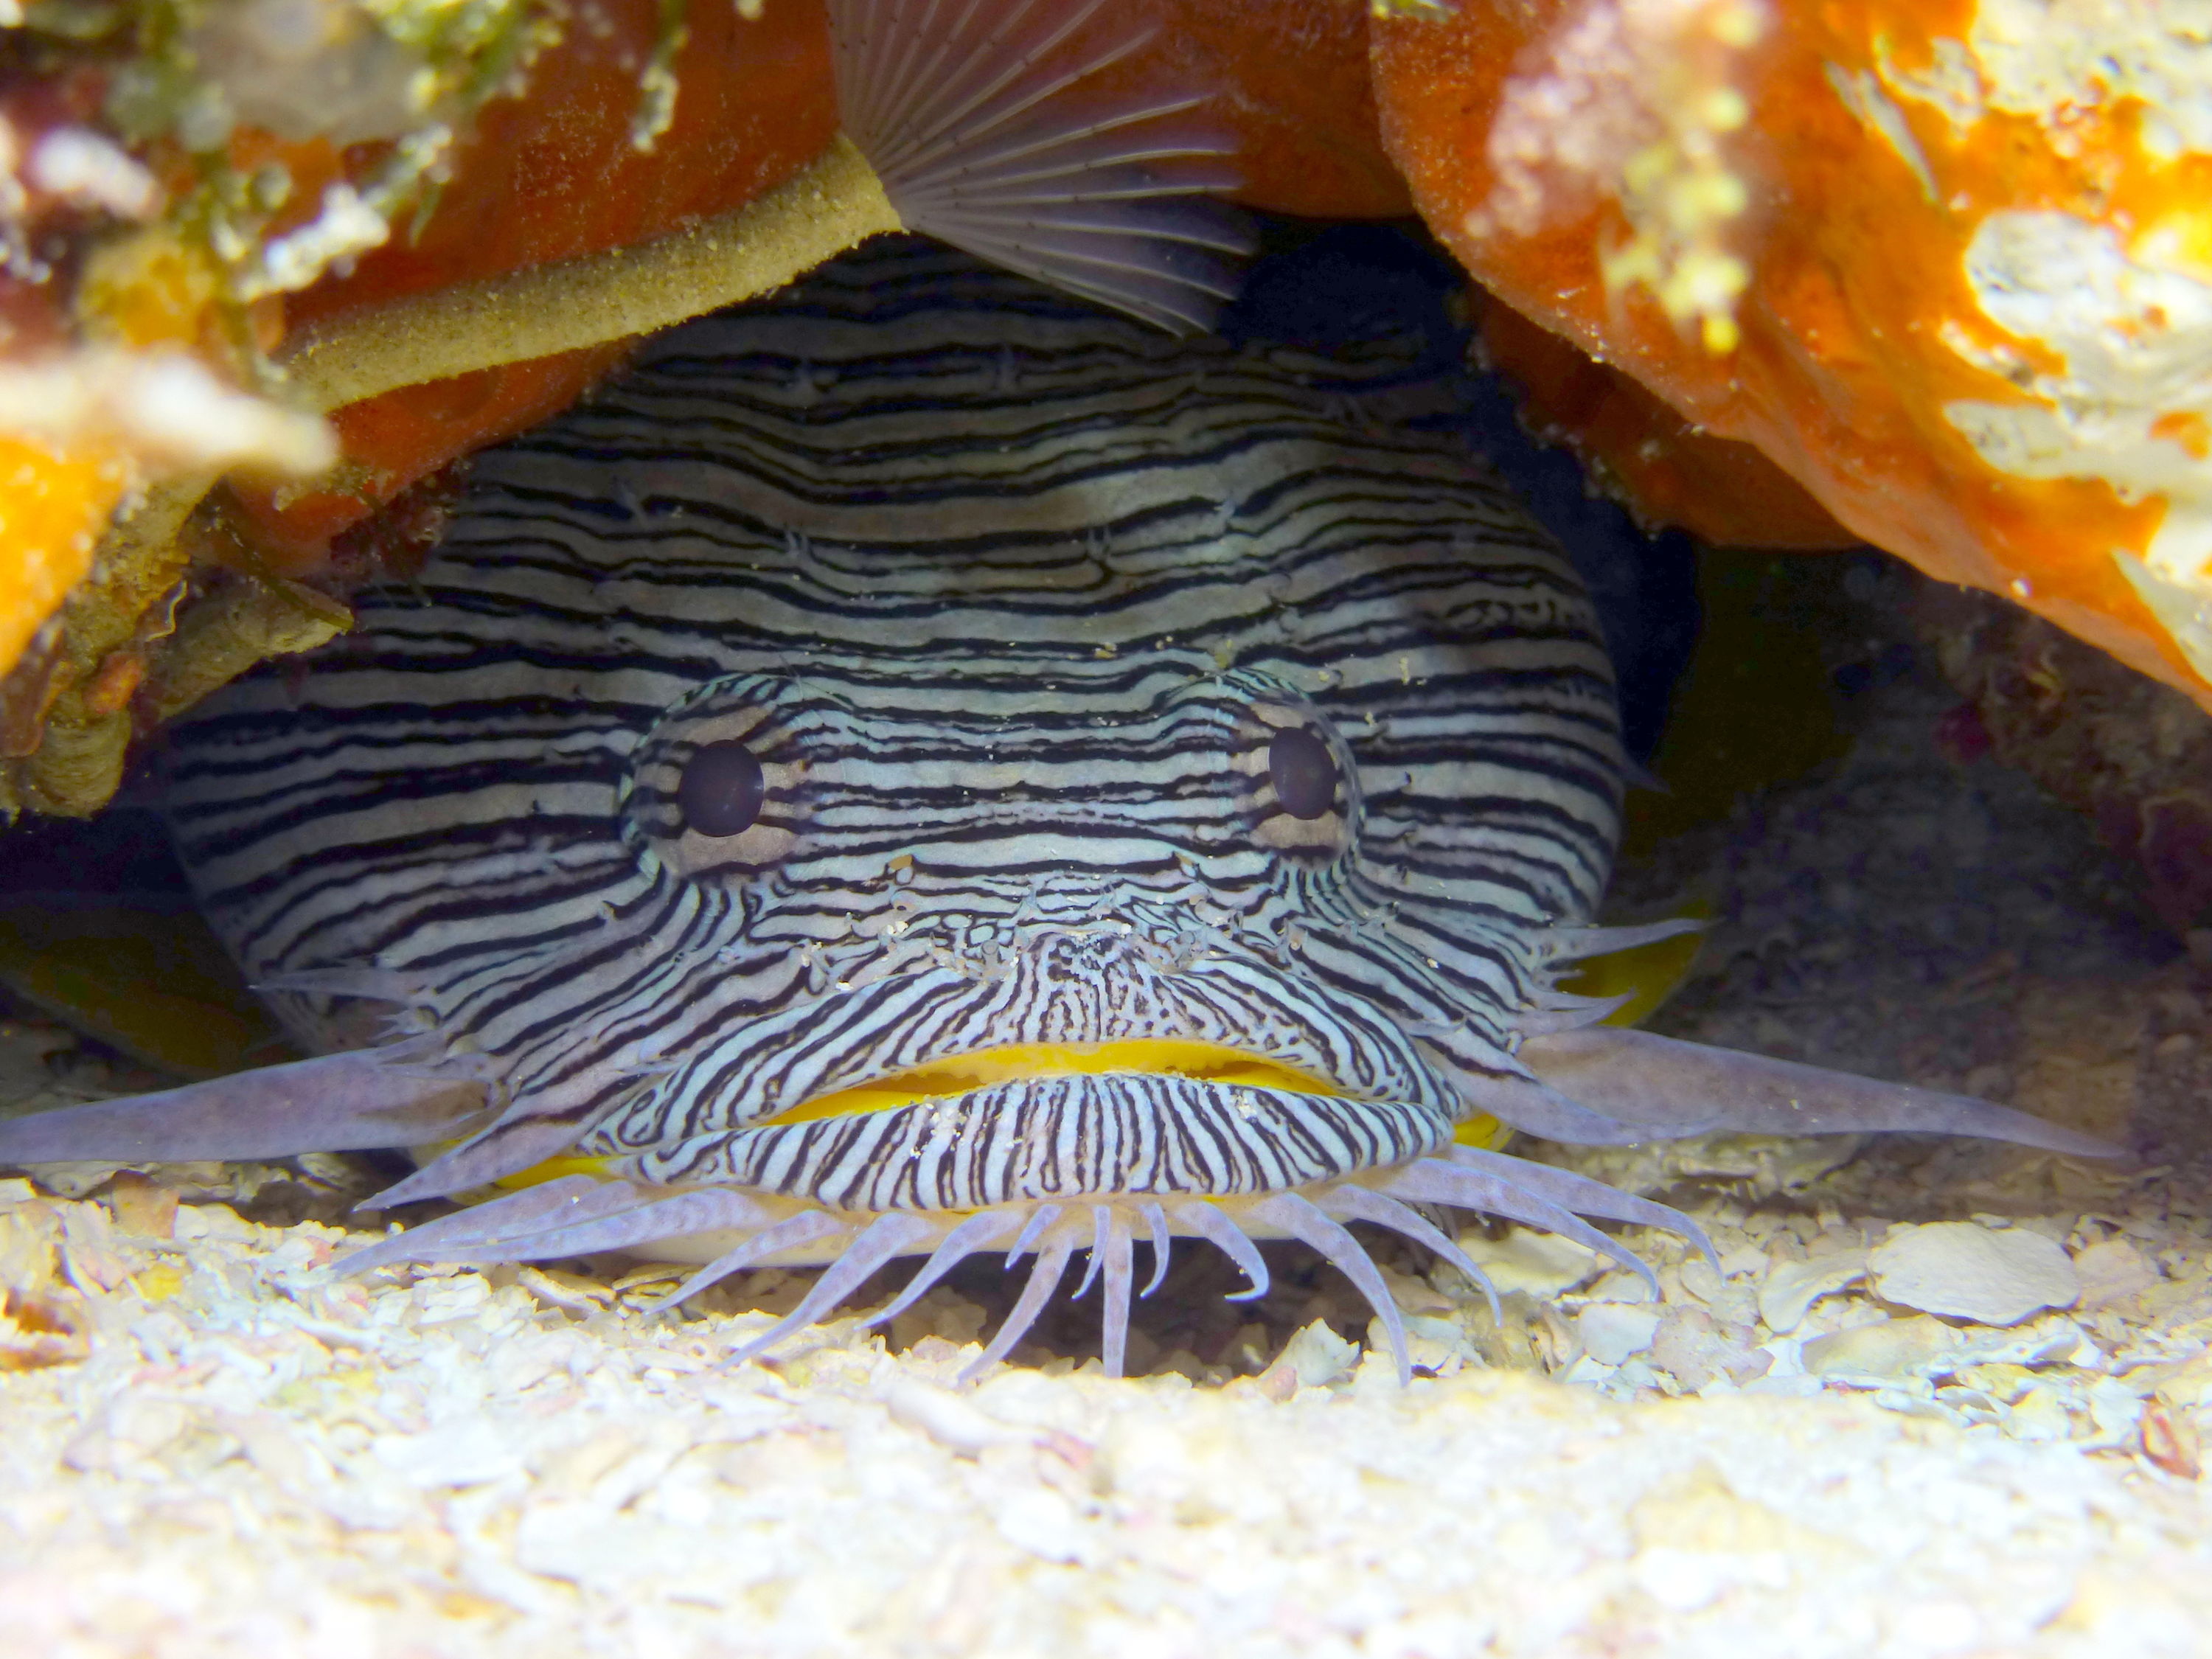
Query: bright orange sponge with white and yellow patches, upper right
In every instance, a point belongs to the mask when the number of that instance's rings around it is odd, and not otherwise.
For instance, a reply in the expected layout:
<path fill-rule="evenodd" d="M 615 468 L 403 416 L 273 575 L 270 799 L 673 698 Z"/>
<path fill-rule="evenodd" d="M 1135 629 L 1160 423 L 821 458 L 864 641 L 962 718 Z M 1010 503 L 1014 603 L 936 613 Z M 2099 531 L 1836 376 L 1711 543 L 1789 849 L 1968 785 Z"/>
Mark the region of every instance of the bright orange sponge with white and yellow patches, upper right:
<path fill-rule="evenodd" d="M 2157 13 L 2110 53 L 2000 24 L 1467 4 L 1374 27 L 1376 97 L 1422 215 L 1509 305 L 1865 540 L 2212 703 L 2188 449 L 2212 155 L 2157 108 L 2188 42 Z"/>

